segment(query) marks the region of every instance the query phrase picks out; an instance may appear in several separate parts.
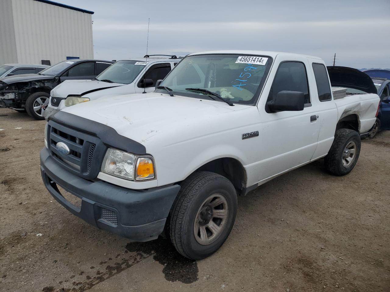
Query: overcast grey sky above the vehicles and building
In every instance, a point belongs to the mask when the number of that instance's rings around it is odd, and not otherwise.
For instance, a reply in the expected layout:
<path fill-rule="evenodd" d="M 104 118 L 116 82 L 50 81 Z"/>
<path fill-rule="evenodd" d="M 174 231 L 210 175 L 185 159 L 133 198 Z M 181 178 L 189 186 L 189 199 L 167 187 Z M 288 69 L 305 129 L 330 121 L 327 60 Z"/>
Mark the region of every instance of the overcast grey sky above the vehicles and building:
<path fill-rule="evenodd" d="M 94 11 L 94 57 L 254 49 L 390 68 L 390 0 L 58 0 Z"/>

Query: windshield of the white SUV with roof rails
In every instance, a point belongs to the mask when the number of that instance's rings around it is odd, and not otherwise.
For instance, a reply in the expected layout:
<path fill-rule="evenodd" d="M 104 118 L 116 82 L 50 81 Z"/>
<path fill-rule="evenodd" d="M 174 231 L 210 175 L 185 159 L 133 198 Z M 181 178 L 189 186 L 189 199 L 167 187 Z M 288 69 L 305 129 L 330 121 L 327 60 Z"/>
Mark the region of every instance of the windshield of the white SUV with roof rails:
<path fill-rule="evenodd" d="M 96 77 L 97 80 L 110 80 L 114 83 L 129 84 L 140 74 L 146 62 L 122 60 L 113 63 Z"/>

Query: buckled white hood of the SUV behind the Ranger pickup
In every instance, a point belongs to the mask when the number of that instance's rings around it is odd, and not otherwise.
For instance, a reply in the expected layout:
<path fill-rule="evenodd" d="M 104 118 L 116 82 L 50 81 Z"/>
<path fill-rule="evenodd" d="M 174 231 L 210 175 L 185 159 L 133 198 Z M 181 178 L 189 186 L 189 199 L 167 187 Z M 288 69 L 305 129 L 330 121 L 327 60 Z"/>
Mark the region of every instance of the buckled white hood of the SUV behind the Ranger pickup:
<path fill-rule="evenodd" d="M 66 80 L 57 85 L 51 94 L 53 97 L 66 98 L 68 95 L 84 95 L 106 88 L 122 86 L 121 83 L 108 83 L 97 80 Z"/>

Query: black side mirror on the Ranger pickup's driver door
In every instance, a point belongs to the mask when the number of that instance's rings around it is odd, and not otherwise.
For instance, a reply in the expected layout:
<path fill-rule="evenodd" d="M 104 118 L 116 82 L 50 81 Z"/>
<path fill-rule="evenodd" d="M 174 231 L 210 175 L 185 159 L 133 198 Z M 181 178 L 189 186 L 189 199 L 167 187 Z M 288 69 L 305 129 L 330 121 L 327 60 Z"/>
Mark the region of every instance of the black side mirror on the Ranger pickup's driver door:
<path fill-rule="evenodd" d="M 303 111 L 305 94 L 301 91 L 283 90 L 278 92 L 274 100 L 267 102 L 270 111 Z"/>

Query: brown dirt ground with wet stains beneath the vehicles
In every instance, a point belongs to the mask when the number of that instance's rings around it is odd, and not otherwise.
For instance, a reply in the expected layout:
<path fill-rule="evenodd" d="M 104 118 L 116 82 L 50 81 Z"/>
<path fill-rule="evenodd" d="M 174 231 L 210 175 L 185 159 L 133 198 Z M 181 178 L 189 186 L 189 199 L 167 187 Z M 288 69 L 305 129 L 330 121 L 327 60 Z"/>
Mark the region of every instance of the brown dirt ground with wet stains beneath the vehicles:
<path fill-rule="evenodd" d="M 39 171 L 44 124 L 0 109 L 0 291 L 390 291 L 390 131 L 362 141 L 347 176 L 319 160 L 239 197 L 226 243 L 193 262 L 58 204 Z"/>

